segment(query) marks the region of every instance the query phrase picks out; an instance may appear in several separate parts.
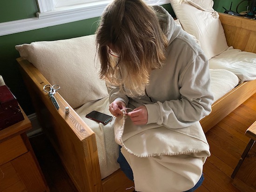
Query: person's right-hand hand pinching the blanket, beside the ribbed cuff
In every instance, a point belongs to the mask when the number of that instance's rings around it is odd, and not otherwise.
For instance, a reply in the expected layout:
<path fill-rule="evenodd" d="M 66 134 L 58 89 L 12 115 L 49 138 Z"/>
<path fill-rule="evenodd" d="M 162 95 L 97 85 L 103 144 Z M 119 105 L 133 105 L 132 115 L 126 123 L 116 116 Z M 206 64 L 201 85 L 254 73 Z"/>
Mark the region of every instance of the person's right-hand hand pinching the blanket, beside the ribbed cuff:
<path fill-rule="evenodd" d="M 139 106 L 128 113 L 135 125 L 146 125 L 148 123 L 148 110 L 145 106 Z"/>

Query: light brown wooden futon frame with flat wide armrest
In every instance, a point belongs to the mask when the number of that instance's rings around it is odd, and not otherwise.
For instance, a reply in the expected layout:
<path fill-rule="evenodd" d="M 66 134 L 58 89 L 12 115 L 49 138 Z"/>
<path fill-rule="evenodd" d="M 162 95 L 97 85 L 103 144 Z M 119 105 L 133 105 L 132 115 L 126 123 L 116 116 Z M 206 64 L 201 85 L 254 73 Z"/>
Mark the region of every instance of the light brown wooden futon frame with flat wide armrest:
<path fill-rule="evenodd" d="M 229 46 L 256 53 L 256 21 L 220 13 Z M 95 133 L 57 92 L 60 109 L 57 111 L 43 86 L 47 79 L 24 58 L 18 58 L 21 72 L 30 92 L 37 117 L 58 152 L 62 164 L 79 192 L 132 192 L 133 182 L 119 170 L 101 179 Z M 256 92 L 256 80 L 244 82 L 218 99 L 212 112 L 201 120 L 204 132 L 209 131 L 237 106 Z M 65 113 L 68 106 L 70 113 Z M 78 130 L 84 129 L 86 135 Z"/>

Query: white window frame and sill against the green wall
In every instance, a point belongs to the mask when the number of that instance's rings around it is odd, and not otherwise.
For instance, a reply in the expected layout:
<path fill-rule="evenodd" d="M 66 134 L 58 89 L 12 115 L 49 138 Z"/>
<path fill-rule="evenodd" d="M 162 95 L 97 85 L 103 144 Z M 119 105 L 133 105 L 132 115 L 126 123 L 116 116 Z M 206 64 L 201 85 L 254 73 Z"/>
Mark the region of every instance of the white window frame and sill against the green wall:
<path fill-rule="evenodd" d="M 112 0 L 84 1 L 87 3 L 58 7 L 59 0 L 38 0 L 40 12 L 37 13 L 37 17 L 0 23 L 0 36 L 99 17 Z M 150 5 L 170 3 L 169 0 L 145 1 Z"/>

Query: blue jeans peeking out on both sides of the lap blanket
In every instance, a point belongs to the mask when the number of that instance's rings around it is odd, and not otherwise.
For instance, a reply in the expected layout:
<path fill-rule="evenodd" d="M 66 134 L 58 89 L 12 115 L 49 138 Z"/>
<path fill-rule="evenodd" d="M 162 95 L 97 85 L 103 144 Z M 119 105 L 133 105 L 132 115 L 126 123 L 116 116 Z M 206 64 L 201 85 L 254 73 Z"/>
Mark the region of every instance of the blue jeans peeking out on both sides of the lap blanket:
<path fill-rule="evenodd" d="M 119 146 L 119 157 L 117 159 L 117 162 L 119 163 L 122 172 L 124 172 L 124 174 L 128 177 L 128 179 L 133 181 L 133 171 L 130 165 L 128 164 L 127 160 L 124 158 L 123 154 L 121 153 L 121 146 Z M 202 174 L 201 178 L 195 184 L 195 186 L 185 192 L 194 192 L 200 185 L 202 185 L 203 179 L 204 177 Z"/>

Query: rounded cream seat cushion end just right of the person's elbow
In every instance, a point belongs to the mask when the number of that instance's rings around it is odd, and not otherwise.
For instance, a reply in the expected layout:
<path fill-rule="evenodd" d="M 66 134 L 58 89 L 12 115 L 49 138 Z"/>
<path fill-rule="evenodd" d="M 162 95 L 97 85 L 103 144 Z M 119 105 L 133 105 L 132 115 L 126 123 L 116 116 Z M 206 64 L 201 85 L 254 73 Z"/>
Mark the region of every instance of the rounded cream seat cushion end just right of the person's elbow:
<path fill-rule="evenodd" d="M 238 77 L 224 69 L 210 69 L 211 90 L 214 94 L 214 102 L 234 89 L 238 83 Z"/>

